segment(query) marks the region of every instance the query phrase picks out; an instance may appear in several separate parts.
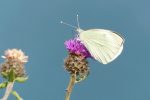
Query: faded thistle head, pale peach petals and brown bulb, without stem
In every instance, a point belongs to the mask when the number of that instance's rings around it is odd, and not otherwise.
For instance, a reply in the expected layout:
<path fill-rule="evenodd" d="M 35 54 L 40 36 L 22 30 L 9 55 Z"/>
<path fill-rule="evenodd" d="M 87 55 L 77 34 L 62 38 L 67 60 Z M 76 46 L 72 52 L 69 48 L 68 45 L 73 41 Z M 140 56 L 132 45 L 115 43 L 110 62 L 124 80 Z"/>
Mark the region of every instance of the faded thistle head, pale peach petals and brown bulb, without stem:
<path fill-rule="evenodd" d="M 0 73 L 8 75 L 13 70 L 15 77 L 25 76 L 24 64 L 28 61 L 28 56 L 25 56 L 22 50 L 8 49 L 2 58 L 5 59 L 5 62 L 0 65 Z"/>

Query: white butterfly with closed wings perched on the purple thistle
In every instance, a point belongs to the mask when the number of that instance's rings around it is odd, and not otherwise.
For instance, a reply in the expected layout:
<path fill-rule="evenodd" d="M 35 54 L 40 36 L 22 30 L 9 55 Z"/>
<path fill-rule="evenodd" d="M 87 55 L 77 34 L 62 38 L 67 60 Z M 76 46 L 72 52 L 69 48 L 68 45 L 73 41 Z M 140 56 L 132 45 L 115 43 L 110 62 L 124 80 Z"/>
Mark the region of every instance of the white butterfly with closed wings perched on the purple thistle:
<path fill-rule="evenodd" d="M 79 33 L 79 40 L 84 44 L 92 57 L 102 64 L 108 64 L 113 61 L 123 50 L 124 38 L 120 34 L 105 29 L 89 29 L 84 31 L 79 27 L 78 15 L 78 27 L 62 21 L 61 23 L 76 28 L 76 31 Z"/>

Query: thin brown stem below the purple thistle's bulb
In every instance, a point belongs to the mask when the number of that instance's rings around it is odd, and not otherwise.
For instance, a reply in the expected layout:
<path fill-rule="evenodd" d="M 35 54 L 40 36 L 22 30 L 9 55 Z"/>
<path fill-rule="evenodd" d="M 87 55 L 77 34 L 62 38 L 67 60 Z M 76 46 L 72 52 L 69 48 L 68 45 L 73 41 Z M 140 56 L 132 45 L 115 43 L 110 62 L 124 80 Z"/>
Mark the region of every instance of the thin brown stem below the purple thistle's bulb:
<path fill-rule="evenodd" d="M 75 84 L 75 80 L 76 80 L 76 75 L 72 74 L 71 77 L 70 77 L 69 85 L 68 85 L 68 87 L 66 89 L 66 99 L 65 100 L 70 100 L 70 95 L 71 95 L 73 86 Z"/>

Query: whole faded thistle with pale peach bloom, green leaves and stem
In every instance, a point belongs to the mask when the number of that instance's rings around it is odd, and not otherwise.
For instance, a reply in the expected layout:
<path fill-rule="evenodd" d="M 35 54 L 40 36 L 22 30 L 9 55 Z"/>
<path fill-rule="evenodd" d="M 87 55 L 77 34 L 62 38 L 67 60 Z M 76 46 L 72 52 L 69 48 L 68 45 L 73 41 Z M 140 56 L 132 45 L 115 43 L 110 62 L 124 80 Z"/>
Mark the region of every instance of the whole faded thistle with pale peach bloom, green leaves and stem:
<path fill-rule="evenodd" d="M 22 50 L 8 49 L 5 51 L 4 63 L 0 65 L 0 74 L 6 80 L 0 84 L 0 88 L 6 88 L 6 92 L 2 100 L 7 100 L 10 93 L 12 93 L 18 100 L 22 100 L 16 91 L 12 91 L 15 82 L 25 82 L 26 76 L 24 64 L 28 61 L 28 56 L 25 56 Z"/>

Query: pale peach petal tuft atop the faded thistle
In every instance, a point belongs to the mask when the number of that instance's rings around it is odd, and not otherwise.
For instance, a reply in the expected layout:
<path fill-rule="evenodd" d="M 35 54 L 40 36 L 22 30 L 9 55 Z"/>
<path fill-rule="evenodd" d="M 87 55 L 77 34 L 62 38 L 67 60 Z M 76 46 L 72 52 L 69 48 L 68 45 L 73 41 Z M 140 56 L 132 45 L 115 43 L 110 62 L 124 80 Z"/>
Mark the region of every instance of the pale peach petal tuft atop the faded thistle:
<path fill-rule="evenodd" d="M 5 55 L 2 56 L 2 58 L 10 62 L 20 62 L 20 63 L 28 62 L 28 56 L 25 56 L 24 52 L 18 49 L 6 50 Z"/>

